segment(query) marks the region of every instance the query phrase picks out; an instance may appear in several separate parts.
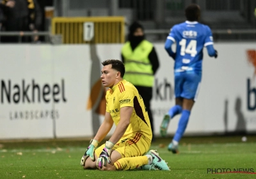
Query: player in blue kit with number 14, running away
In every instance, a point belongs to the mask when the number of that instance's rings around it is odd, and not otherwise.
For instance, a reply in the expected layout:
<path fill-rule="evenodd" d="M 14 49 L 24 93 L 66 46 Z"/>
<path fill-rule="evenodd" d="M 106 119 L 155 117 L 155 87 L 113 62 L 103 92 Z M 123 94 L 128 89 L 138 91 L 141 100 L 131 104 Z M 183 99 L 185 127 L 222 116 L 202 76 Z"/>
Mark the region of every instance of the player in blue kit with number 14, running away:
<path fill-rule="evenodd" d="M 217 58 L 213 47 L 212 33 L 209 26 L 198 22 L 200 7 L 190 4 L 186 10 L 186 22 L 176 24 L 168 35 L 164 48 L 175 60 L 175 105 L 164 115 L 160 127 L 161 136 L 166 136 L 170 120 L 181 113 L 179 125 L 168 150 L 178 153 L 178 144 L 188 125 L 191 109 L 196 101 L 202 78 L 203 49 L 207 48 L 209 56 Z M 176 52 L 172 51 L 172 44 Z"/>

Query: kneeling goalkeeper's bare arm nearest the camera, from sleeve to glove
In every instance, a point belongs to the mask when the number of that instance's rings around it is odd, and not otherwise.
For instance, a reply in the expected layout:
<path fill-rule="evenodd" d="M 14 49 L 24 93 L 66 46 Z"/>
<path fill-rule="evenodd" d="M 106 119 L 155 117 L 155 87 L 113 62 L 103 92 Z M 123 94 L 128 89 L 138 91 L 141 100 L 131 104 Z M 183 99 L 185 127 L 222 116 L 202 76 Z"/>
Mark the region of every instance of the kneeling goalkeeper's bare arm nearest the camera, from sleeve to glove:
<path fill-rule="evenodd" d="M 122 136 L 124 136 L 125 130 L 130 124 L 130 118 L 132 116 L 133 107 L 125 106 L 120 109 L 120 121 L 116 126 L 113 135 L 110 137 L 109 141 L 111 143 L 117 143 Z"/>

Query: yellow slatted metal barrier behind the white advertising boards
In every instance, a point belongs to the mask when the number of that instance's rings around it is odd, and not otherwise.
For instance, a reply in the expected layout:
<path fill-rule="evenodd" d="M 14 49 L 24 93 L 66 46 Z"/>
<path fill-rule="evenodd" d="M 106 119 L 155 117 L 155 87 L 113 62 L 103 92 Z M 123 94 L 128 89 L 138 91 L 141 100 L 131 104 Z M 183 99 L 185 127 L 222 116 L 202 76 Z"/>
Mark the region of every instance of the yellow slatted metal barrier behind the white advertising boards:
<path fill-rule="evenodd" d="M 92 22 L 93 38 L 84 40 L 84 23 Z M 54 17 L 52 35 L 62 35 L 63 43 L 124 43 L 124 17 Z"/>

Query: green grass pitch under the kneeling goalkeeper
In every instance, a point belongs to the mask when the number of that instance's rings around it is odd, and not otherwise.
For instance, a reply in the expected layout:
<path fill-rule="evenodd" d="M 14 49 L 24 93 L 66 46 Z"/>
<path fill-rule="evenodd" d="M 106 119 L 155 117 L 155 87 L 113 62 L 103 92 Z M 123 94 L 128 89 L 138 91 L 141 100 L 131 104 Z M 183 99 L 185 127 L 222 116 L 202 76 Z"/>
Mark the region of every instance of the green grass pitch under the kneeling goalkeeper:
<path fill-rule="evenodd" d="M 159 144 L 156 149 L 171 171 L 83 170 L 80 159 L 89 141 L 58 139 L 41 141 L 0 141 L 0 178 L 256 178 L 256 136 L 184 137 L 180 153 L 174 155 Z M 207 169 L 250 169 L 255 174 L 212 174 Z"/>

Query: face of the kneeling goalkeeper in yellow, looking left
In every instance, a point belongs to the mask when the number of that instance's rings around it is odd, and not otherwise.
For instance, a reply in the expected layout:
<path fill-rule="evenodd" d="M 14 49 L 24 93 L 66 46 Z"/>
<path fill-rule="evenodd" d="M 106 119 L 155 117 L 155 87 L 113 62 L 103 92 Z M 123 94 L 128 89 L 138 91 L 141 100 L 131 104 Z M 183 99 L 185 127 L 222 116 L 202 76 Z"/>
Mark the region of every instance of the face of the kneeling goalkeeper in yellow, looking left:
<path fill-rule="evenodd" d="M 105 65 L 101 70 L 101 81 L 104 87 L 112 88 L 117 84 L 120 80 L 120 72 L 116 71 L 115 69 L 111 68 L 112 65 Z"/>

